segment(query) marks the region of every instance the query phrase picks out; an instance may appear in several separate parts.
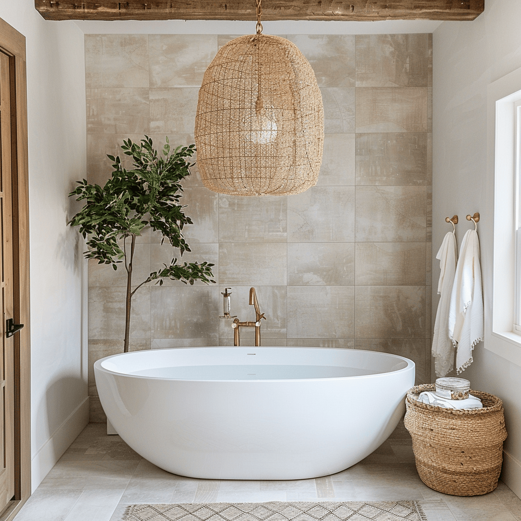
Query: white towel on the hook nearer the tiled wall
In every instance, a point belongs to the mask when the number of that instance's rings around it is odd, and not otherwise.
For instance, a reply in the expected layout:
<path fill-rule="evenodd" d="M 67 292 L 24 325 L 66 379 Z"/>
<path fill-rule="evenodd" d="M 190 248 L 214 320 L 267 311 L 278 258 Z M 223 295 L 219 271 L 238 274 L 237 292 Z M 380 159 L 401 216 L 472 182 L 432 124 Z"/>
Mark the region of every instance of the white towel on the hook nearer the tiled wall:
<path fill-rule="evenodd" d="M 452 286 L 456 273 L 456 237 L 448 232 L 443 238 L 436 258 L 440 260 L 440 279 L 438 294 L 440 302 L 434 322 L 434 337 L 432 340 L 432 356 L 435 357 L 436 376 L 445 376 L 454 366 L 454 345 L 449 337 L 449 304 Z"/>

